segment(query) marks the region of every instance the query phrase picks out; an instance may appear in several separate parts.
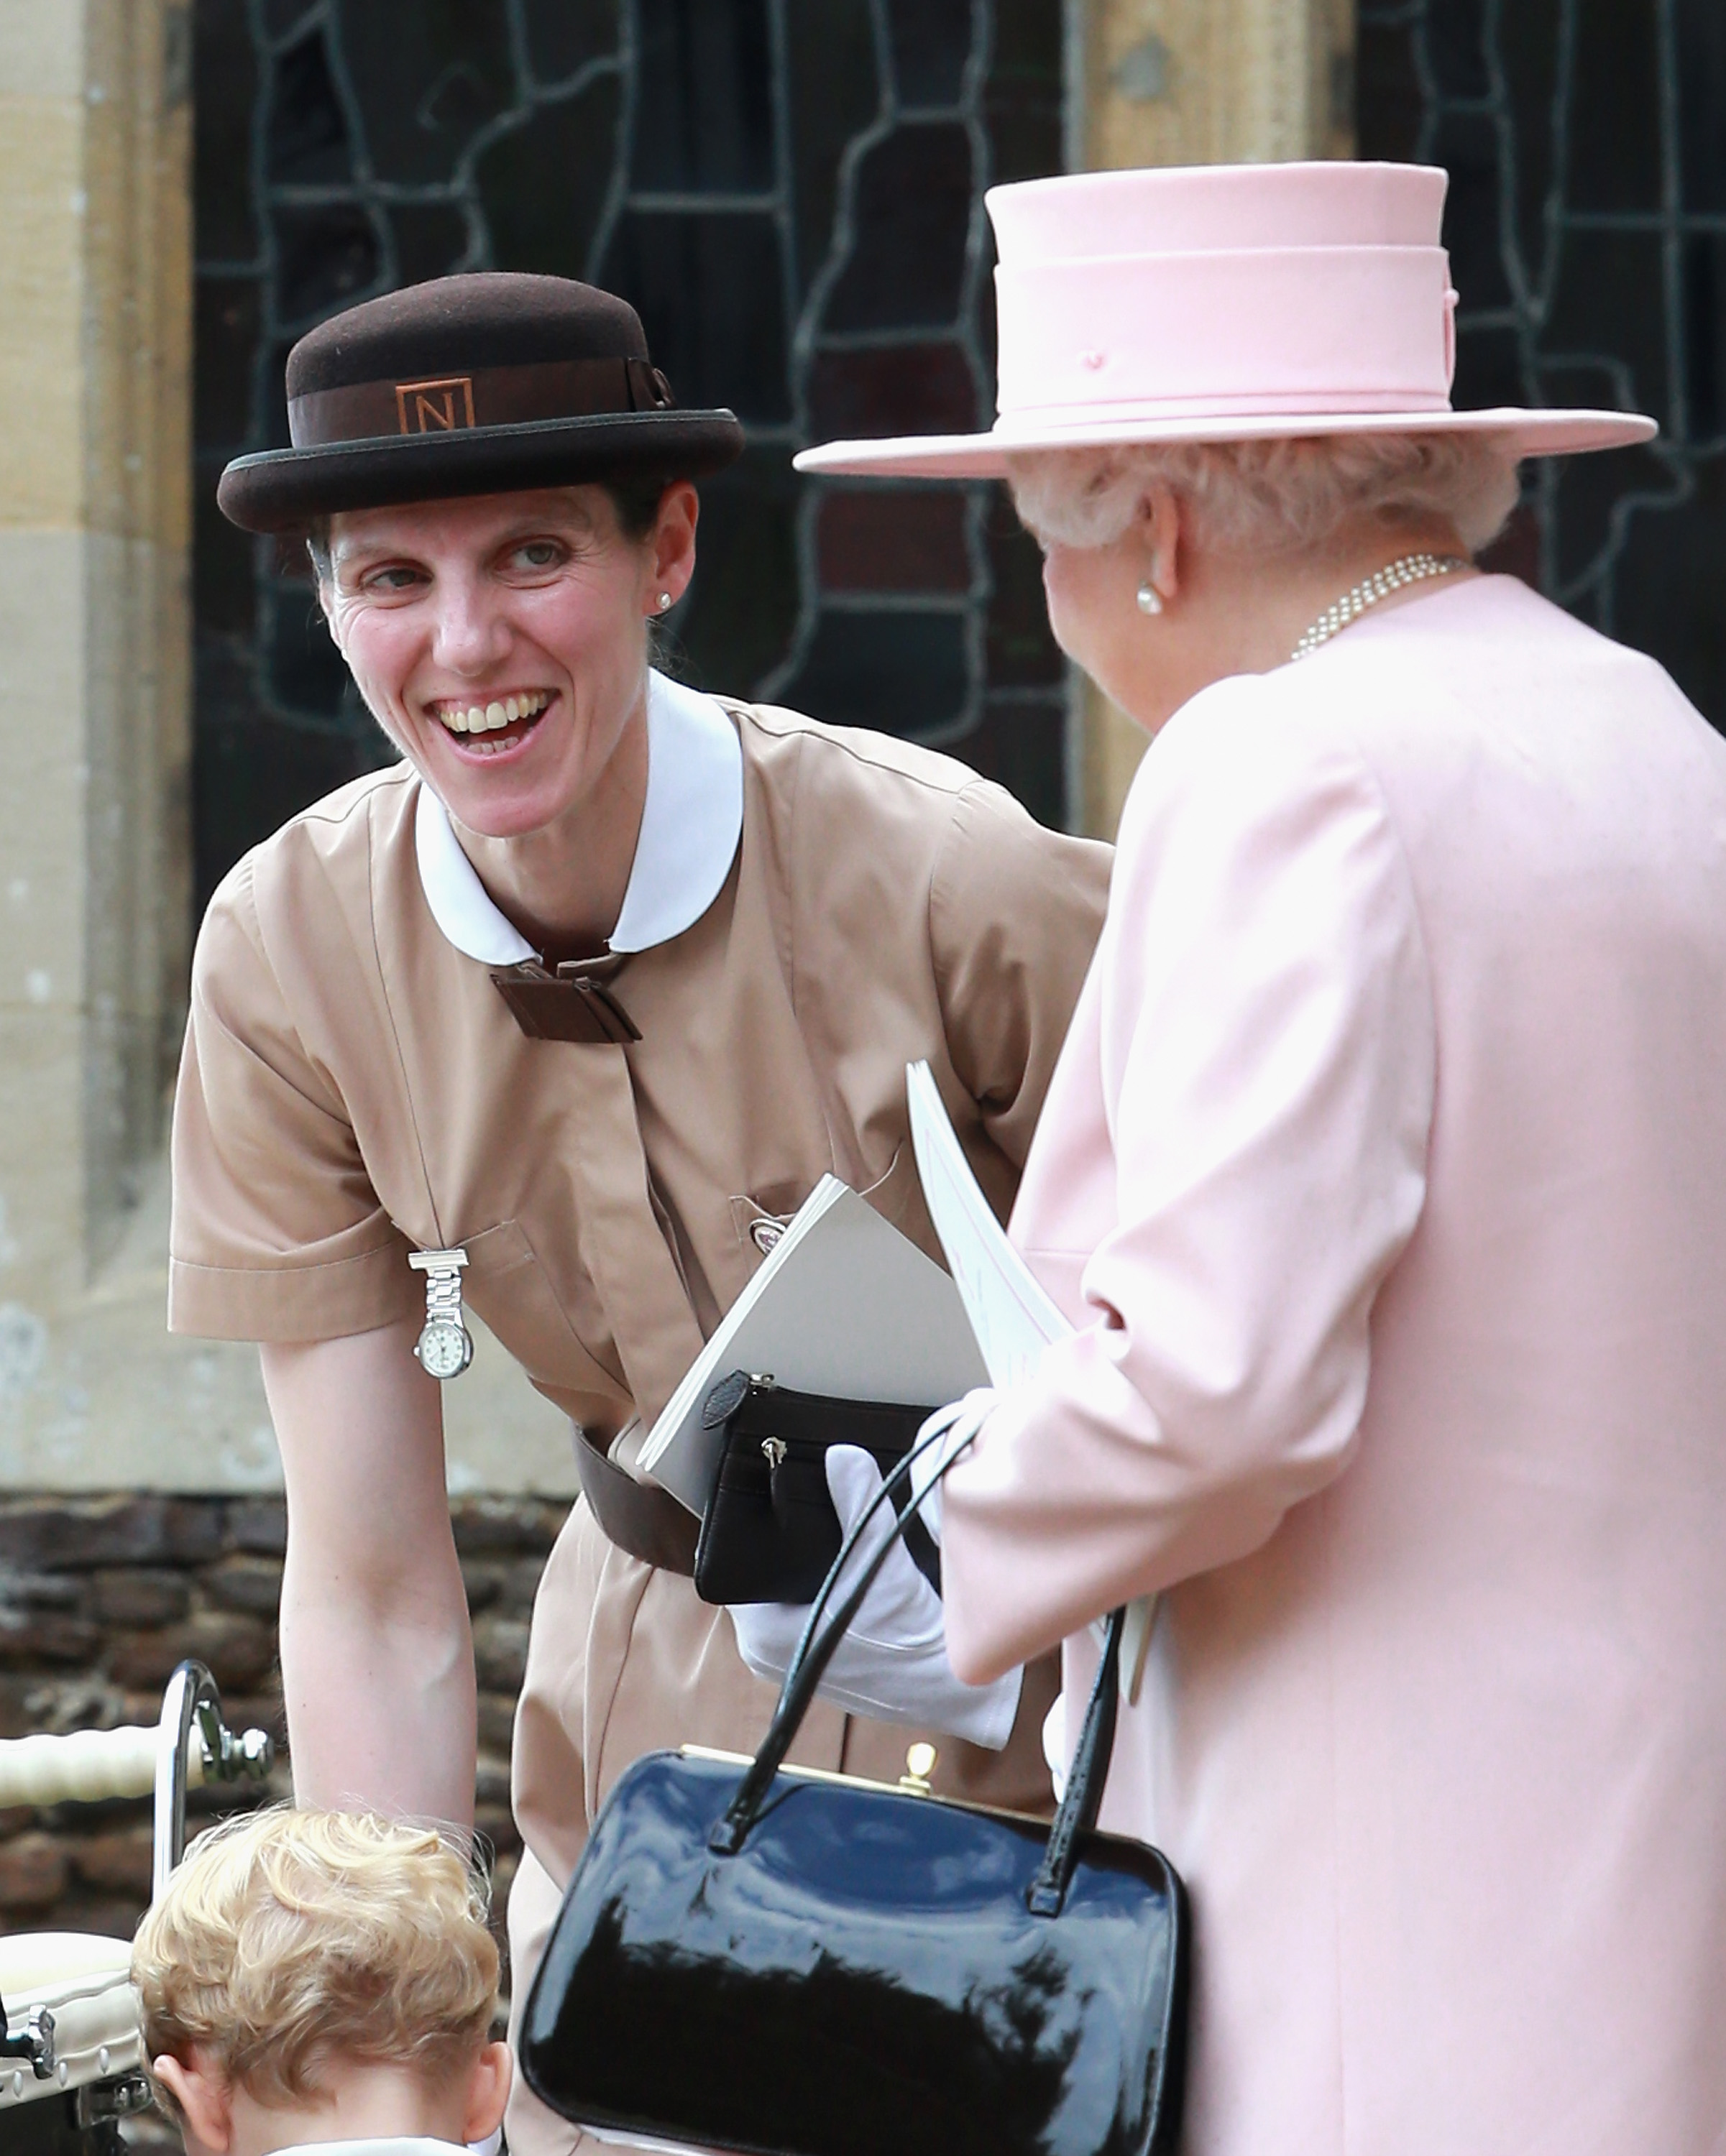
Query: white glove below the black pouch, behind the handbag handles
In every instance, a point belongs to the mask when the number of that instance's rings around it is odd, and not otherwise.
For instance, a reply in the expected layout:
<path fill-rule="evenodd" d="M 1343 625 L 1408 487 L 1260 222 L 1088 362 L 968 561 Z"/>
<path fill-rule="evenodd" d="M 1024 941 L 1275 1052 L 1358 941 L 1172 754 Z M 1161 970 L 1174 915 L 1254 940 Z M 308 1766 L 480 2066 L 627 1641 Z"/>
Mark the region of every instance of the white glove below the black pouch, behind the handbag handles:
<path fill-rule="evenodd" d="M 880 1468 L 857 1445 L 835 1445 L 826 1455 L 826 1488 L 850 1535 L 880 1492 Z M 850 1565 L 833 1589 L 837 1608 L 857 1574 L 893 1533 L 893 1507 L 882 1505 L 863 1531 Z M 738 1651 L 757 1677 L 779 1684 L 809 1617 L 800 1602 L 742 1602 L 731 1608 Z M 1001 1751 L 1018 1714 L 1020 1671 L 995 1684 L 960 1684 L 947 1660 L 941 1595 L 910 1559 L 904 1542 L 874 1578 L 850 1632 L 839 1641 L 820 1682 L 822 1699 L 867 1714 L 878 1723 L 945 1729 L 988 1751 Z"/>

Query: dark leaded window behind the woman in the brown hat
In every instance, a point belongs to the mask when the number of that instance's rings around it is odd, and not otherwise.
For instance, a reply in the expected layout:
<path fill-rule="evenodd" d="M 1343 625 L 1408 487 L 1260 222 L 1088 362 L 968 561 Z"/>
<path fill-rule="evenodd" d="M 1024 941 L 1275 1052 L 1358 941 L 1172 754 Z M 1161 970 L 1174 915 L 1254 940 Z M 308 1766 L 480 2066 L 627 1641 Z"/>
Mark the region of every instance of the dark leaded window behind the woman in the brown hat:
<path fill-rule="evenodd" d="M 315 321 L 451 270 L 621 291 L 749 451 L 703 485 L 682 671 L 956 750 L 1061 821 L 1064 668 L 990 487 L 800 481 L 986 425 L 982 192 L 1059 170 L 1061 0 L 198 0 L 198 890 L 386 755 L 296 550 L 214 505 Z"/>

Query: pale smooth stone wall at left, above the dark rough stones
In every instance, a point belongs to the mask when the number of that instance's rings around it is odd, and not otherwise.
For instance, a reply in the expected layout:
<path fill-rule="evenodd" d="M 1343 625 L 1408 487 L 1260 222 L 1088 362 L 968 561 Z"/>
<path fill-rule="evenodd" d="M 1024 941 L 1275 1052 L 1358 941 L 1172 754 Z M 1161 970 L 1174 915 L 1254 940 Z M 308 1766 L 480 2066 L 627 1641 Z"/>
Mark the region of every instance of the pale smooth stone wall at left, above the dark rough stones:
<path fill-rule="evenodd" d="M 162 1330 L 162 1130 L 192 938 L 190 56 L 188 0 L 0 0 L 13 1490 L 280 1485 L 257 1354 Z M 451 1401 L 457 1488 L 567 1490 L 561 1416 L 490 1348 Z"/>

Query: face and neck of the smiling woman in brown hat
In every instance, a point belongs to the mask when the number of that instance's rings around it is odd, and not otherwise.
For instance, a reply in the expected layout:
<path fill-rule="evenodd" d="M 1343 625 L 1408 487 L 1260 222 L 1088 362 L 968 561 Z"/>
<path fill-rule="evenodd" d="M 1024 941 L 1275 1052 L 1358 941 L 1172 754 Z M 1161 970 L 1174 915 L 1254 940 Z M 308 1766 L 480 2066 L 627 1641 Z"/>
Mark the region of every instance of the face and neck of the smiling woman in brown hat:
<path fill-rule="evenodd" d="M 602 485 L 345 511 L 319 597 L 367 707 L 539 951 L 598 951 L 647 793 L 643 623 L 695 567 L 677 481 L 632 537 Z"/>

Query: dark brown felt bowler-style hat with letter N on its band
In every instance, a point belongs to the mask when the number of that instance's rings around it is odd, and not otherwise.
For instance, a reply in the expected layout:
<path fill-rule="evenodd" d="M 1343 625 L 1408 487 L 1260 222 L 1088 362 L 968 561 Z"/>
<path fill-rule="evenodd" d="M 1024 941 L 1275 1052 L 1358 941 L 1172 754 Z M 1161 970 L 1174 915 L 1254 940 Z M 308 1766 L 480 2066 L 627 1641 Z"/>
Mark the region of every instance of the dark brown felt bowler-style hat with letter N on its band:
<path fill-rule="evenodd" d="M 699 479 L 742 455 L 736 412 L 680 412 L 641 317 L 593 285 L 485 270 L 350 306 L 287 356 L 291 448 L 235 457 L 216 500 L 248 533 L 337 509 L 591 479 Z"/>

